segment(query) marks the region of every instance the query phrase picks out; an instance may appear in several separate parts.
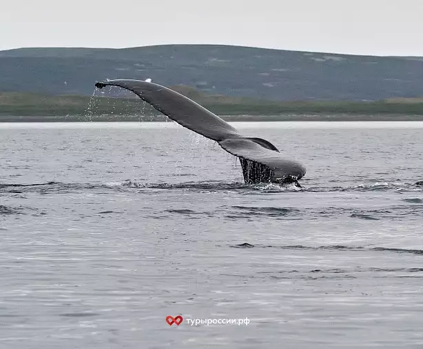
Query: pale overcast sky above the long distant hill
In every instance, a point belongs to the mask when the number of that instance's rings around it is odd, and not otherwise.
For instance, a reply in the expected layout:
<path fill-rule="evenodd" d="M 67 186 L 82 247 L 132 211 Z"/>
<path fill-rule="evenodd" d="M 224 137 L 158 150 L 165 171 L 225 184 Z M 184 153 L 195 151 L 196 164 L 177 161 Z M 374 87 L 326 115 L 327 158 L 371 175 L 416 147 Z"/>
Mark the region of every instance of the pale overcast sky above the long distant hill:
<path fill-rule="evenodd" d="M 423 0 L 1 0 L 0 50 L 223 43 L 423 56 Z"/>

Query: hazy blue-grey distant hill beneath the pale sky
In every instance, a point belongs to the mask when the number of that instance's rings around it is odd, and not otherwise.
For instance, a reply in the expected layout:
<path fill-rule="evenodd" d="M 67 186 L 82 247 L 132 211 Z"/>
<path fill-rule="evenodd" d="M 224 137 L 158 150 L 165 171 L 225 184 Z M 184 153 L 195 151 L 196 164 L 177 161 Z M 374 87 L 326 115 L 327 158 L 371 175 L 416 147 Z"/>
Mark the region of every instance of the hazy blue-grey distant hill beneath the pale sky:
<path fill-rule="evenodd" d="M 423 95 L 423 58 L 216 45 L 0 51 L 0 91 L 90 95 L 102 79 L 183 84 L 274 101 L 380 101 Z"/>

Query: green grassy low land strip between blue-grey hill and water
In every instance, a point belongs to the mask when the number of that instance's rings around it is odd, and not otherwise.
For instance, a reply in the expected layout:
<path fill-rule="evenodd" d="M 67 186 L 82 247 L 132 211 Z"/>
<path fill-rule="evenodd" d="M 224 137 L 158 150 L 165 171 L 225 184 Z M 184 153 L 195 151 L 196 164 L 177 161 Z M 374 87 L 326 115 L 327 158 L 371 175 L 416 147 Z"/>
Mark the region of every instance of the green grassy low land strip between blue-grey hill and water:
<path fill-rule="evenodd" d="M 384 101 L 265 101 L 205 94 L 187 86 L 185 94 L 227 120 L 422 120 L 423 99 Z M 310 115 L 313 115 L 311 117 Z M 336 116 L 336 117 L 335 117 Z M 164 121 L 165 117 L 138 98 L 50 96 L 0 92 L 0 121 Z"/>

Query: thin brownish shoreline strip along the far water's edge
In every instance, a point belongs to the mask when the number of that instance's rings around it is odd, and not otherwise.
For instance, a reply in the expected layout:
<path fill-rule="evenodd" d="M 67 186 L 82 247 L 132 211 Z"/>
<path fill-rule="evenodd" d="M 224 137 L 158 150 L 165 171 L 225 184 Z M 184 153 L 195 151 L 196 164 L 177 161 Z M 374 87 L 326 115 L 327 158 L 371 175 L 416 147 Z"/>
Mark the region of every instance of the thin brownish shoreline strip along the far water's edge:
<path fill-rule="evenodd" d="M 423 121 L 423 115 L 402 114 L 281 114 L 281 115 L 223 115 L 225 121 Z M 0 115 L 0 123 L 32 123 L 32 122 L 165 122 L 172 121 L 163 116 L 136 117 L 101 115 L 95 117 L 81 116 L 14 116 Z"/>

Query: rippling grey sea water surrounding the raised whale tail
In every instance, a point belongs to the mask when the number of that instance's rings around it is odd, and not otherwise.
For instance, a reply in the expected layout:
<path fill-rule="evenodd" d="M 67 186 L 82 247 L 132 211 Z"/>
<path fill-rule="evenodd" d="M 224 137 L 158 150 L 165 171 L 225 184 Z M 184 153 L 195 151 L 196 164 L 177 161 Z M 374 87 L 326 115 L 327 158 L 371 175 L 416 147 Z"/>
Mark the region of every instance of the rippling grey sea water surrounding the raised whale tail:
<path fill-rule="evenodd" d="M 0 348 L 422 348 L 423 123 L 234 126 L 304 188 L 175 123 L 0 124 Z"/>

